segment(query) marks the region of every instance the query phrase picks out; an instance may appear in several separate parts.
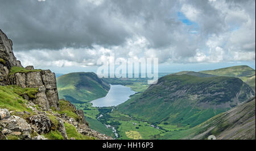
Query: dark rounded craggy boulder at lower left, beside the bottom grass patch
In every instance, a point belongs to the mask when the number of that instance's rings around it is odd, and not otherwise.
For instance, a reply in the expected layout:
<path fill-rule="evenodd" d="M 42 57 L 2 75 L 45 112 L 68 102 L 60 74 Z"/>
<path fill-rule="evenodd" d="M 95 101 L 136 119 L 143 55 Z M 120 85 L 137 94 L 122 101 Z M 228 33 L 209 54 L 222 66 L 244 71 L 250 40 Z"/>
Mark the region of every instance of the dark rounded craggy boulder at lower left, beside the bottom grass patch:
<path fill-rule="evenodd" d="M 51 121 L 46 115 L 33 115 L 28 118 L 35 132 L 45 134 L 51 130 Z"/>

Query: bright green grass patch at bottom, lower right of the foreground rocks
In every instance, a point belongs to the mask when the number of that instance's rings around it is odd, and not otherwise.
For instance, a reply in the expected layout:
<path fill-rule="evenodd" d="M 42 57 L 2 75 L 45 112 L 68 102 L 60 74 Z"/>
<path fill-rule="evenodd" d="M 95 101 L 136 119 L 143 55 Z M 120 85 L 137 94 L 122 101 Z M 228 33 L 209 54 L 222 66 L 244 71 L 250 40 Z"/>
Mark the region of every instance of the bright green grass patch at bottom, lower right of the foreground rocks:
<path fill-rule="evenodd" d="M 93 140 L 93 137 L 85 136 L 77 132 L 74 125 L 69 123 L 64 123 L 68 139 L 74 137 L 76 140 Z"/>

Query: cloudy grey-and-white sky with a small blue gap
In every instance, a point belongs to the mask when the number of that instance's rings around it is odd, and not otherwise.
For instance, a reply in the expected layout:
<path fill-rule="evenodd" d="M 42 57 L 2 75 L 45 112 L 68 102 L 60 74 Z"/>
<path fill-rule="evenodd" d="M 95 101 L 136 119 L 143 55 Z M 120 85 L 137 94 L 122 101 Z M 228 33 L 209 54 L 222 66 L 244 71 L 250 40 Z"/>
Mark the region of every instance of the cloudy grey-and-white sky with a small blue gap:
<path fill-rule="evenodd" d="M 255 1 L 0 0 L 23 66 L 95 72 L 97 60 L 156 57 L 159 72 L 255 69 Z"/>

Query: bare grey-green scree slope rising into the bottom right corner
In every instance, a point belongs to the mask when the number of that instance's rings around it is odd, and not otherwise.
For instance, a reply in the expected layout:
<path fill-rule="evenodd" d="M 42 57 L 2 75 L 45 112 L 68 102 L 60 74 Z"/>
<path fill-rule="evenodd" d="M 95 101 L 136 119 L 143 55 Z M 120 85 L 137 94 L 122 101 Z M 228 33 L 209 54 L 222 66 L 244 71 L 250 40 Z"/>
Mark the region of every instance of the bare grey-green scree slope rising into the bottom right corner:
<path fill-rule="evenodd" d="M 180 132 L 168 132 L 162 139 L 255 140 L 255 97 L 213 118 Z"/>

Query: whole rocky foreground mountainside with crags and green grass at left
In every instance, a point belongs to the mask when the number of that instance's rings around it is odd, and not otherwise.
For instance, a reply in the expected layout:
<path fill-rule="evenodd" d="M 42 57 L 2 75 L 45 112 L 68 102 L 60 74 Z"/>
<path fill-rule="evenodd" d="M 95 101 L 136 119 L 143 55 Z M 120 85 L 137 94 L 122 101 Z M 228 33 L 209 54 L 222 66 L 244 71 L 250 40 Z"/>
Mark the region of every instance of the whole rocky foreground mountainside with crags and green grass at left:
<path fill-rule="evenodd" d="M 84 112 L 59 100 L 55 73 L 23 68 L 0 30 L 0 140 L 112 139 L 90 129 Z"/>

